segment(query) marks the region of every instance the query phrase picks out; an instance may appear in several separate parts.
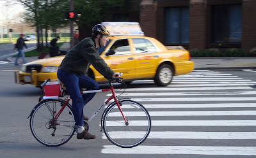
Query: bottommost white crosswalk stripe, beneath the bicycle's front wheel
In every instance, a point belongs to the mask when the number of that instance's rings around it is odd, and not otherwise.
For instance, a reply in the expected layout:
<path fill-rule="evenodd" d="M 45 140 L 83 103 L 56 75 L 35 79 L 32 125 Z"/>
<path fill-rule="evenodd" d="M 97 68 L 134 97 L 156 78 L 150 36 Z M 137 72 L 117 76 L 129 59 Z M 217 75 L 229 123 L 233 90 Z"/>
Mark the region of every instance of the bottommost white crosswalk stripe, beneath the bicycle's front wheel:
<path fill-rule="evenodd" d="M 104 145 L 103 154 L 185 154 L 185 155 L 256 155 L 256 147 L 145 146 L 120 148 Z M 147 156 L 145 156 L 147 157 Z M 172 156 L 170 156 L 172 157 Z M 191 156 L 193 157 L 193 156 Z"/>

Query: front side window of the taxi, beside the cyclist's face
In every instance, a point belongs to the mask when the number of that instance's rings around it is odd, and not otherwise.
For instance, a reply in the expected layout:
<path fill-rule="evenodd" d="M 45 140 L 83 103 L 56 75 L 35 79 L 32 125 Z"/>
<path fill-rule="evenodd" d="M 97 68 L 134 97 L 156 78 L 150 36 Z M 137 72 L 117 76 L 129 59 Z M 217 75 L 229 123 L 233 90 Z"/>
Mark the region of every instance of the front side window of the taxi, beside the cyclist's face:
<path fill-rule="evenodd" d="M 115 50 L 115 55 L 131 54 L 128 39 L 119 39 L 111 46 Z"/>

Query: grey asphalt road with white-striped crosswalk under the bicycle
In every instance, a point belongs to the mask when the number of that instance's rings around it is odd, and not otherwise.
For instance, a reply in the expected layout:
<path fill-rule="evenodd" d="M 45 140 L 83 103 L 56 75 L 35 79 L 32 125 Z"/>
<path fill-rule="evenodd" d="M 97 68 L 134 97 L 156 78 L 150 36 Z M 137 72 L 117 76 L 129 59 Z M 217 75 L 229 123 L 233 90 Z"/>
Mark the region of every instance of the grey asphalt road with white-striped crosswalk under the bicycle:
<path fill-rule="evenodd" d="M 176 76 L 168 87 L 133 82 L 122 97 L 142 103 L 152 117 L 150 136 L 140 146 L 120 148 L 104 139 L 101 111 L 90 122 L 96 140 L 74 136 L 60 147 L 45 147 L 33 138 L 27 119 L 40 89 L 15 84 L 13 70 L 0 67 L 1 157 L 256 157 L 255 76 L 255 69 L 197 70 Z M 106 92 L 97 94 L 86 115 L 106 97 Z"/>

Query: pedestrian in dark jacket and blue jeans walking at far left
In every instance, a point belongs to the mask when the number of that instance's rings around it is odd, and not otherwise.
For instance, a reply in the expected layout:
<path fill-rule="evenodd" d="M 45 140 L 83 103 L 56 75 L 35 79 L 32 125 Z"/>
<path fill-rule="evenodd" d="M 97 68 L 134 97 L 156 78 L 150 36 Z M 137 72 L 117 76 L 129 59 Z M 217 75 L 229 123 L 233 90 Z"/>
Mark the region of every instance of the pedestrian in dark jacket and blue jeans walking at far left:
<path fill-rule="evenodd" d="M 24 42 L 23 37 L 24 37 L 24 34 L 20 34 L 20 38 L 17 39 L 17 43 L 14 45 L 13 52 L 16 52 L 16 48 L 18 50 L 18 54 L 17 54 L 16 60 L 15 60 L 15 65 L 19 65 L 18 60 L 20 57 L 22 57 L 22 60 L 24 63 L 27 63 L 25 56 L 23 54 L 23 47 L 26 47 L 27 49 L 28 49 L 28 47 L 27 47 L 26 43 Z"/>

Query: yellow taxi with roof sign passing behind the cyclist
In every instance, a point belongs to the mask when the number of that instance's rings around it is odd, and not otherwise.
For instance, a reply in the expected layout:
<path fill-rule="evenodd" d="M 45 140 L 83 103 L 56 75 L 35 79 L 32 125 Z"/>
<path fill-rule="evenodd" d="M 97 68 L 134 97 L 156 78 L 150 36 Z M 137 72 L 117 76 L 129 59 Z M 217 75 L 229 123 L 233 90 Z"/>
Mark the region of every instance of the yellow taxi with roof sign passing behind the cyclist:
<path fill-rule="evenodd" d="M 112 27 L 119 31 L 114 25 L 116 23 L 109 23 L 102 24 L 106 25 L 110 32 Z M 132 24 L 126 24 L 128 27 L 125 27 L 125 31 L 130 31 L 127 35 L 121 35 L 120 32 L 111 34 L 106 47 L 98 49 L 102 59 L 113 71 L 124 73 L 122 78 L 125 82 L 153 79 L 156 85 L 166 86 L 172 82 L 173 76 L 193 71 L 194 62 L 190 61 L 187 50 L 167 49 L 157 39 L 143 36 L 140 28 L 140 33 L 129 34 L 134 31 L 134 25 L 138 26 L 138 23 Z M 124 25 L 120 28 L 124 28 Z M 15 82 L 38 87 L 47 78 L 57 79 L 56 72 L 64 57 L 65 55 L 50 57 L 24 64 L 20 71 L 15 72 Z M 87 75 L 99 83 L 107 81 L 93 66 Z"/>

